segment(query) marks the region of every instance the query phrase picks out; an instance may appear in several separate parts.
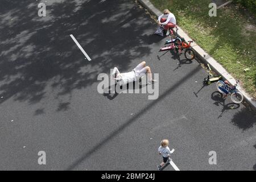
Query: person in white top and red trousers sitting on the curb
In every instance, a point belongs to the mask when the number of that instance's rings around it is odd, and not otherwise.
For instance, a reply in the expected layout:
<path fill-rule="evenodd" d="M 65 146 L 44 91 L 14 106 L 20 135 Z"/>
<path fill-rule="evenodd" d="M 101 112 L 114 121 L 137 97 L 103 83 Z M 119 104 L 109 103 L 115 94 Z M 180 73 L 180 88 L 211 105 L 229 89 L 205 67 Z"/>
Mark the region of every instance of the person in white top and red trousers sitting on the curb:
<path fill-rule="evenodd" d="M 166 35 L 170 34 L 170 29 L 176 26 L 176 18 L 168 9 L 164 9 L 163 14 L 158 17 L 159 26 L 167 30 Z"/>

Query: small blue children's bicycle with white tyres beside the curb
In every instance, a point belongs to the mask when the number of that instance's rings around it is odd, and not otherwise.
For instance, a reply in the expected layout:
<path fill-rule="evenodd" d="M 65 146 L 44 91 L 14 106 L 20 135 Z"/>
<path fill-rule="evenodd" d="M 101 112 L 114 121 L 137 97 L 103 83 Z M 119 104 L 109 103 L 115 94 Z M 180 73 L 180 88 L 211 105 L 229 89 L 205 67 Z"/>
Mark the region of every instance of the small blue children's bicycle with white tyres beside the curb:
<path fill-rule="evenodd" d="M 231 100 L 236 103 L 240 104 L 243 101 L 243 94 L 237 90 L 237 83 L 234 86 L 229 86 L 228 81 L 221 81 L 217 82 L 217 90 L 220 93 L 225 93 L 227 96 L 230 94 Z"/>

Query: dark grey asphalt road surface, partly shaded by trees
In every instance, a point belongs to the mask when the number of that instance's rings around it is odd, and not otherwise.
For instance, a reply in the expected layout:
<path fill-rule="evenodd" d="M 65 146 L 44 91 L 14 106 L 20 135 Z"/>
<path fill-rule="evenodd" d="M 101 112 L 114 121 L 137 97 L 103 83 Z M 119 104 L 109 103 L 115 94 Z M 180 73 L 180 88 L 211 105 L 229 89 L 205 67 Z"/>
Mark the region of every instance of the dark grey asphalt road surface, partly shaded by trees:
<path fill-rule="evenodd" d="M 41 2 L 46 17 L 39 1 L 1 1 L 1 170 L 156 170 L 164 138 L 180 170 L 256 169 L 255 111 L 201 89 L 199 62 L 158 52 L 167 38 L 134 1 Z M 159 73 L 157 100 L 97 92 L 99 73 L 142 60 Z"/>

